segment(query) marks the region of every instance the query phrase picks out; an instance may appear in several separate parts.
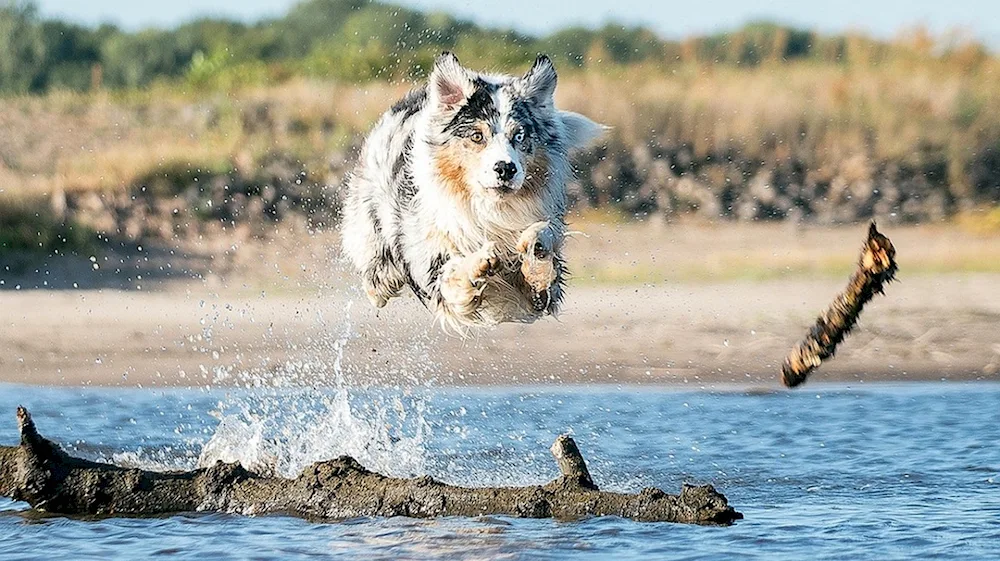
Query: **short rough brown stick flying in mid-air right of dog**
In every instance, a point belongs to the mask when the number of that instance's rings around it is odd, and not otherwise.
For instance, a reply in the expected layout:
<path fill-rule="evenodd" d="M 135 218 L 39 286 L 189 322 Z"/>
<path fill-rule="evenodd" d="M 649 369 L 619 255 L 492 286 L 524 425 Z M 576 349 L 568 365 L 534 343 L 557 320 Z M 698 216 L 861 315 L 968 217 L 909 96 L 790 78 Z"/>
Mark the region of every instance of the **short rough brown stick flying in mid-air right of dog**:
<path fill-rule="evenodd" d="M 896 249 L 872 222 L 868 238 L 861 248 L 858 269 L 851 276 L 847 289 L 837 295 L 809 330 L 809 334 L 781 366 L 781 381 L 793 388 L 806 381 L 823 360 L 833 356 L 837 345 L 850 333 L 861 310 L 876 294 L 884 294 L 884 286 L 896 278 Z"/>

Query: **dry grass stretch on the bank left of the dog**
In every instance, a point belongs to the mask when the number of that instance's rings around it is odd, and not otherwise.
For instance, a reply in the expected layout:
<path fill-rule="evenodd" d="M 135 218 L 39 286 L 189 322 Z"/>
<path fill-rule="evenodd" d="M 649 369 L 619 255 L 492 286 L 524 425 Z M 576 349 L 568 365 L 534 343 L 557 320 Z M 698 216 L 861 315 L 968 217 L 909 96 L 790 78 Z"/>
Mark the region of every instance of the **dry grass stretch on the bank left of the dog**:
<path fill-rule="evenodd" d="M 165 87 L 0 100 L 0 190 L 114 190 L 164 167 L 218 169 L 268 151 L 321 165 L 405 87 L 295 82 L 232 94 Z"/>

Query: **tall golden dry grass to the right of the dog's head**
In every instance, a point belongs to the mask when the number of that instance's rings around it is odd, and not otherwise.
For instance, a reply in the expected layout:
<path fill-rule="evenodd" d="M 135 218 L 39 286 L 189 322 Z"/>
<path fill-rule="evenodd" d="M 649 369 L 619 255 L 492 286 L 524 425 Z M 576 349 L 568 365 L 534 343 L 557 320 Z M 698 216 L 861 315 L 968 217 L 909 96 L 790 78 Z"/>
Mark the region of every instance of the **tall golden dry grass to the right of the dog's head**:
<path fill-rule="evenodd" d="M 943 152 L 958 188 L 968 187 L 961 183 L 969 148 L 1000 129 L 994 61 L 974 72 L 902 62 L 650 70 L 622 69 L 614 80 L 572 76 L 559 97 L 611 125 L 626 144 L 689 142 L 695 157 L 737 153 L 780 161 L 804 151 L 817 173 L 852 166 L 864 174 L 874 161 L 916 164 L 933 147 Z"/>

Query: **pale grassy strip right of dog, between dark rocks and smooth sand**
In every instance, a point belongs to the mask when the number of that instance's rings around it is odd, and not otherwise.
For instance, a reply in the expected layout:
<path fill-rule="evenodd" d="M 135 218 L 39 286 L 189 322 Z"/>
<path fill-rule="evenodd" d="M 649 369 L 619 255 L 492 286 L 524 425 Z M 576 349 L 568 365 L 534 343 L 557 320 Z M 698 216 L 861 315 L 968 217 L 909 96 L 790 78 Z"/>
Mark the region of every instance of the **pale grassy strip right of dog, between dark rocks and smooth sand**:
<path fill-rule="evenodd" d="M 674 225 L 572 220 L 582 232 L 568 242 L 572 283 L 764 281 L 847 278 L 864 239 L 863 226 L 685 222 Z M 995 232 L 965 228 L 886 228 L 898 251 L 900 278 L 944 273 L 1000 273 Z"/>

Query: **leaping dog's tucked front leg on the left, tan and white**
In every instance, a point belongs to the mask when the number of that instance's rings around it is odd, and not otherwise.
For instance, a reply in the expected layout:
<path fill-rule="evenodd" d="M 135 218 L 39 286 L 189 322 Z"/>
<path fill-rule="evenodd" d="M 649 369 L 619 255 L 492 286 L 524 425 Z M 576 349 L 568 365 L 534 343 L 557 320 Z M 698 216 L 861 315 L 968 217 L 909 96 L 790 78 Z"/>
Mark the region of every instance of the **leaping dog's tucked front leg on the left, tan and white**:
<path fill-rule="evenodd" d="M 493 242 L 486 242 L 472 255 L 449 259 L 441 270 L 440 311 L 458 323 L 471 320 L 486 288 L 486 277 L 497 264 Z"/>

